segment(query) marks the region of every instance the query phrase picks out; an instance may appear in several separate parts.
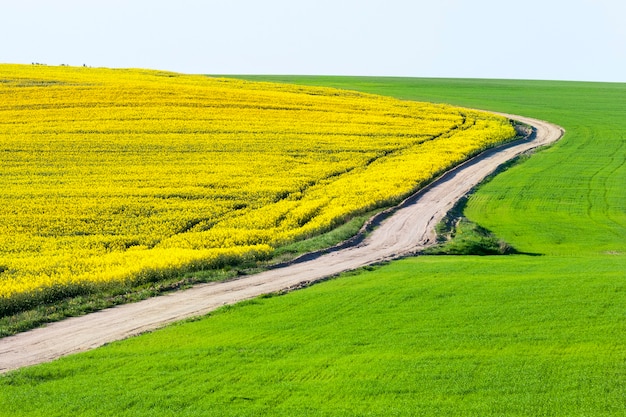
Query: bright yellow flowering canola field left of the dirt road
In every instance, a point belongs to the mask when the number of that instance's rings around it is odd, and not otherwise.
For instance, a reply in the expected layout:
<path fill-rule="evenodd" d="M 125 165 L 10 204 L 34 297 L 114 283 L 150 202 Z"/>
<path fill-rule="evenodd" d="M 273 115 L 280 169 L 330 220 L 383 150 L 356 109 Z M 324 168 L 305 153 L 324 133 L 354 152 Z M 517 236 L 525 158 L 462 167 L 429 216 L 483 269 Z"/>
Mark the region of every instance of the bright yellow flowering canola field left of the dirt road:
<path fill-rule="evenodd" d="M 0 65 L 0 310 L 269 257 L 514 136 L 330 88 Z"/>

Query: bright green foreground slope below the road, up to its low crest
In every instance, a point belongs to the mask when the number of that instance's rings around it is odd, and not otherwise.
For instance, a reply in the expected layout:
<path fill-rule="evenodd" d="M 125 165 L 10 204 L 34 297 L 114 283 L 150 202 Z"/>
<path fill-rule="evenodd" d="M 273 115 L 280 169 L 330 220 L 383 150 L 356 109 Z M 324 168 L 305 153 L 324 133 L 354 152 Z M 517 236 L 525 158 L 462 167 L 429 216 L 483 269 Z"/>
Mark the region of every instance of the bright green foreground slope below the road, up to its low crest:
<path fill-rule="evenodd" d="M 47 417 L 621 416 L 618 266 L 404 260 L 13 373 L 0 378 L 0 406 Z"/>

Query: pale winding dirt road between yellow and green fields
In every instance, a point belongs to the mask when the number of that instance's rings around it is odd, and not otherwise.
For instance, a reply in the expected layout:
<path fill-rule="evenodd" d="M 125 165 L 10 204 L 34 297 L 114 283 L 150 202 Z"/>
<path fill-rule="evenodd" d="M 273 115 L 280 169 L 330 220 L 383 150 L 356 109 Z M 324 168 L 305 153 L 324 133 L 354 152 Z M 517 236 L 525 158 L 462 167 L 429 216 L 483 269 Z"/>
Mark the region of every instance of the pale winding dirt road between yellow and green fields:
<path fill-rule="evenodd" d="M 340 272 L 410 255 L 435 241 L 435 225 L 457 200 L 502 163 L 530 149 L 555 142 L 564 131 L 521 116 L 535 134 L 482 153 L 451 170 L 397 210 L 355 246 L 237 280 L 195 286 L 0 339 L 0 373 L 102 346 L 168 323 L 201 316 L 225 304 L 297 287 Z"/>

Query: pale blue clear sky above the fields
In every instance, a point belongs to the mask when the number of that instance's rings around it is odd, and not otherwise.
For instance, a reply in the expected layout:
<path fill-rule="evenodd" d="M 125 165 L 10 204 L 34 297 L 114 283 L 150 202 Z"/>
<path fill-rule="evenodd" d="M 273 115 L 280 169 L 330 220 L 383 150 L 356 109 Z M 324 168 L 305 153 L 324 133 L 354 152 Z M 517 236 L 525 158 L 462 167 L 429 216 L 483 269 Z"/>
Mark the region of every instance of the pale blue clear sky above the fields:
<path fill-rule="evenodd" d="M 626 82 L 625 0 L 0 0 L 0 62 Z"/>

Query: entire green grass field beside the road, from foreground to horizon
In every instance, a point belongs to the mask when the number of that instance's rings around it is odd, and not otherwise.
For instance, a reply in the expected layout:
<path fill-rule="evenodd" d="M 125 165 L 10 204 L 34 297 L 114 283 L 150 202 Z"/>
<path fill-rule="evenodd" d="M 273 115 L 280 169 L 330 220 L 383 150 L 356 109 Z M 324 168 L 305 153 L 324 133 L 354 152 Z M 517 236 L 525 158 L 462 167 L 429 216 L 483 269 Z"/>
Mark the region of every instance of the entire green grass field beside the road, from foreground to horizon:
<path fill-rule="evenodd" d="M 2 376 L 3 416 L 626 415 L 626 84 L 271 80 L 560 124 L 465 212 L 542 256 L 423 256 L 227 307 Z"/>

